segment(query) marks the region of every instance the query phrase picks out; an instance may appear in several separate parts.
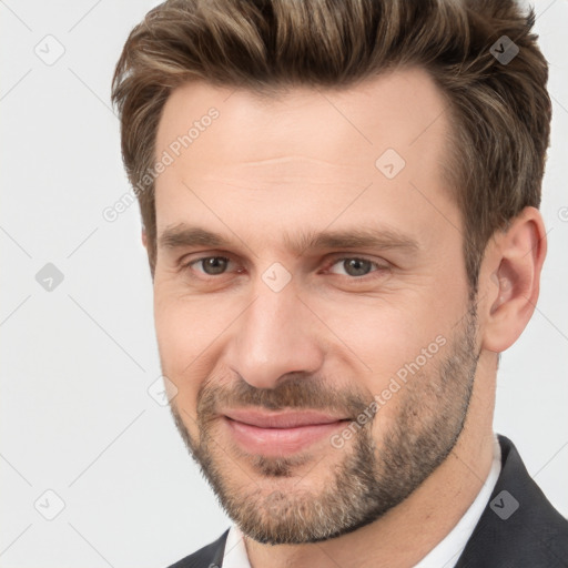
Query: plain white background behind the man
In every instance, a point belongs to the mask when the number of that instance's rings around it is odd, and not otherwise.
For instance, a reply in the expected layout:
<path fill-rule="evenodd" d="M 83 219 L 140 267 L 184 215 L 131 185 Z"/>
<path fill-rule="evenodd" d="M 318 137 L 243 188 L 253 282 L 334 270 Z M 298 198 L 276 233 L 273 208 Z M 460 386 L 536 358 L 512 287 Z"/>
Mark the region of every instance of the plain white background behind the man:
<path fill-rule="evenodd" d="M 166 566 L 230 523 L 146 392 L 160 367 L 138 204 L 102 216 L 128 191 L 111 77 L 154 4 L 0 1 L 1 568 Z M 501 359 L 495 429 L 568 516 L 568 3 L 535 6 L 554 101 L 549 254 L 532 321 Z M 34 53 L 48 34 L 65 50 L 52 65 Z M 64 275 L 52 292 L 36 281 L 47 263 Z M 34 508 L 47 489 L 65 505 L 51 521 Z"/>

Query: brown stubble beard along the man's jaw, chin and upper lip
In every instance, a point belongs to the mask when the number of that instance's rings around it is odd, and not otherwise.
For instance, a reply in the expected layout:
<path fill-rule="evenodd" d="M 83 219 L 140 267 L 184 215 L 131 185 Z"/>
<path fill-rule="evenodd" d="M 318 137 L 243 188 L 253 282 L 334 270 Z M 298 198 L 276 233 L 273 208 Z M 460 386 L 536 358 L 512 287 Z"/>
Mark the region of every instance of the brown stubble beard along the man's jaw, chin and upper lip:
<path fill-rule="evenodd" d="M 199 442 L 190 435 L 173 402 L 171 412 L 190 454 L 244 535 L 271 545 L 318 542 L 352 532 L 384 516 L 418 488 L 450 454 L 464 428 L 471 398 L 479 358 L 475 337 L 476 312 L 471 303 L 448 342 L 449 353 L 439 362 L 428 362 L 396 394 L 404 398 L 399 398 L 396 419 L 385 427 L 381 439 L 373 438 L 375 420 L 372 419 L 358 429 L 352 444 L 342 449 L 329 445 L 329 452 L 343 452 L 344 457 L 337 463 L 337 454 L 332 455 L 329 473 L 320 487 L 315 483 L 308 485 L 308 468 L 297 479 L 297 489 L 290 489 L 297 468 L 316 460 L 314 455 L 276 458 L 251 456 L 235 448 L 234 455 L 229 456 L 213 434 L 212 415 L 219 400 L 215 387 L 201 390 L 197 397 Z M 351 395 L 348 402 L 341 403 L 334 394 L 322 396 L 321 387 L 308 386 L 306 379 L 293 379 L 281 386 L 268 390 L 240 383 L 237 399 L 266 408 L 343 407 L 349 408 L 349 416 L 369 406 L 359 395 Z M 325 408 L 323 400 L 327 403 Z M 255 476 L 243 473 L 251 468 Z M 317 463 L 313 471 L 316 469 Z M 242 481 L 235 481 L 233 471 Z M 320 471 L 320 479 L 321 475 Z M 286 484 L 285 490 L 278 488 L 278 480 Z"/>

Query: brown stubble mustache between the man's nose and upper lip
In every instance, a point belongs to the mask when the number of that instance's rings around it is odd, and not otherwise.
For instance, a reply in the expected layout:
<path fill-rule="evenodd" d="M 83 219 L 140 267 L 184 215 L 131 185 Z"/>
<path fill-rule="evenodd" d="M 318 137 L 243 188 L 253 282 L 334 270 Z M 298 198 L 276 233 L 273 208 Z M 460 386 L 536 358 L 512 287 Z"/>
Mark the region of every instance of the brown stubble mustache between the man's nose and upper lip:
<path fill-rule="evenodd" d="M 355 418 L 374 400 L 372 393 L 353 385 L 334 387 L 320 376 L 288 373 L 274 388 L 256 388 L 241 375 L 232 382 L 205 381 L 197 392 L 197 417 L 206 422 L 220 408 L 255 407 L 267 410 L 313 409 Z"/>

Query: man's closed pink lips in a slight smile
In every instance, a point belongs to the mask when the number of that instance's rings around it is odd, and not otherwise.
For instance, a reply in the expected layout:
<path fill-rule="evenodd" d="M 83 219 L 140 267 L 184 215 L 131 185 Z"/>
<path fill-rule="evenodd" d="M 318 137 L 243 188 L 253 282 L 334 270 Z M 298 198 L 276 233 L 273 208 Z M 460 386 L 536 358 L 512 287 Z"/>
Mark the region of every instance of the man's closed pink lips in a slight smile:
<path fill-rule="evenodd" d="M 224 413 L 233 439 L 248 454 L 286 456 L 312 446 L 345 427 L 351 418 L 318 412 L 262 413 L 230 410 Z"/>

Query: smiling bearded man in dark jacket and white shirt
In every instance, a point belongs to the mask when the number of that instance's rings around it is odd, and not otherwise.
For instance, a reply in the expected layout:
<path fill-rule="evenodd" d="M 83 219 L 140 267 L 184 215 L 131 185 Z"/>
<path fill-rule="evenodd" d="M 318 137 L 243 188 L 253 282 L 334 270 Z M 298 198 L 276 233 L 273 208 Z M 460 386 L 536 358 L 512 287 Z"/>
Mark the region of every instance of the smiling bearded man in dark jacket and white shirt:
<path fill-rule="evenodd" d="M 560 567 L 493 432 L 538 298 L 548 68 L 513 1 L 179 0 L 113 82 L 175 424 L 176 567 Z"/>

